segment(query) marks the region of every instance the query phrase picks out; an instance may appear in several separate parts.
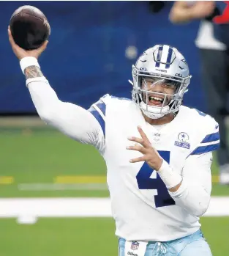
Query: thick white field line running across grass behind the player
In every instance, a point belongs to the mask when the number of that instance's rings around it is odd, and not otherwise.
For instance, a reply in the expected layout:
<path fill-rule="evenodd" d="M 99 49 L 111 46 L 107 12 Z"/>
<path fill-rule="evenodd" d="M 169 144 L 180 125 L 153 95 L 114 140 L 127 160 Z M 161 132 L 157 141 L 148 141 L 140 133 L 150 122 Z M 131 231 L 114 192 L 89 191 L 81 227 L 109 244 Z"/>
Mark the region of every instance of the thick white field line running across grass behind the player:
<path fill-rule="evenodd" d="M 34 223 L 39 217 L 110 217 L 110 198 L 2 198 L 0 218 Z M 229 216 L 229 197 L 212 197 L 204 216 Z"/>

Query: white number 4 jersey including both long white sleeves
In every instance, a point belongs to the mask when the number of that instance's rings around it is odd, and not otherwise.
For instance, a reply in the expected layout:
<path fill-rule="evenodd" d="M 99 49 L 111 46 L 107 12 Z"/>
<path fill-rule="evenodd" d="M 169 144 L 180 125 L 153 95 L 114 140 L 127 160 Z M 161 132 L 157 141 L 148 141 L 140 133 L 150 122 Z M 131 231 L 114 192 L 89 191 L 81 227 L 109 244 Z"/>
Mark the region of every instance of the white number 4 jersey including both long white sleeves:
<path fill-rule="evenodd" d="M 219 127 L 212 117 L 181 106 L 172 122 L 153 126 L 132 100 L 105 95 L 87 111 L 59 100 L 43 80 L 28 85 L 42 120 L 94 145 L 105 158 L 116 235 L 128 241 L 170 241 L 200 228 L 198 216 L 206 211 L 211 194 L 211 152 L 219 147 Z M 146 163 L 129 163 L 141 156 L 126 149 L 132 143 L 129 136 L 140 137 L 138 125 L 173 172 L 182 176 L 178 191 L 168 192 Z"/>

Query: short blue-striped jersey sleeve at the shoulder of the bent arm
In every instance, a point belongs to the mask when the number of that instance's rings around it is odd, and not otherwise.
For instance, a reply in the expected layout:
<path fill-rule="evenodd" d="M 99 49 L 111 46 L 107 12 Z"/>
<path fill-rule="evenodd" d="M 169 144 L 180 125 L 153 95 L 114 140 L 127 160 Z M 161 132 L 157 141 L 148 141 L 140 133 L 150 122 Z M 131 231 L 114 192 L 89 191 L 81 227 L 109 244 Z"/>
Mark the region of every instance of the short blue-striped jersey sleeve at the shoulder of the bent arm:
<path fill-rule="evenodd" d="M 203 123 L 200 125 L 202 125 L 202 127 L 200 127 L 200 142 L 189 156 L 201 155 L 219 148 L 219 124 L 214 118 L 206 116 L 203 119 Z"/>

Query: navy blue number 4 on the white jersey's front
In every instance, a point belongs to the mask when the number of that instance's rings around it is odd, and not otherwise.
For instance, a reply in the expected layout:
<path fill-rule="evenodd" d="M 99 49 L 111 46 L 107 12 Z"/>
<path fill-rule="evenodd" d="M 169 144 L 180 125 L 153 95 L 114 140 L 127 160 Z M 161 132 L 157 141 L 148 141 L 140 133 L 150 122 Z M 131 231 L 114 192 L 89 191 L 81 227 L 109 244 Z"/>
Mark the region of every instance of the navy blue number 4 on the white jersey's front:
<path fill-rule="evenodd" d="M 159 155 L 165 159 L 168 163 L 170 162 L 170 152 L 169 151 L 158 151 Z M 155 205 L 157 207 L 175 205 L 174 200 L 168 194 L 168 189 L 163 183 L 162 179 L 157 174 L 156 178 L 150 178 L 152 173 L 156 172 L 151 169 L 149 165 L 145 162 L 140 168 L 138 175 L 136 176 L 139 189 L 157 189 L 157 196 L 154 196 Z"/>

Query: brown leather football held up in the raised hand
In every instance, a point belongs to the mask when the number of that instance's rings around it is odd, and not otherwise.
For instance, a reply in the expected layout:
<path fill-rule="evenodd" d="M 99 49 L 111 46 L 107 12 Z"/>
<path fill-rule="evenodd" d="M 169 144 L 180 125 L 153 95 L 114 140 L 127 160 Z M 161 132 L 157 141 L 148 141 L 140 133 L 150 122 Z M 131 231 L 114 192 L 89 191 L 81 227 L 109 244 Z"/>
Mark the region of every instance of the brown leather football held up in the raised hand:
<path fill-rule="evenodd" d="M 25 5 L 13 12 L 10 31 L 15 43 L 25 50 L 39 48 L 50 35 L 47 18 L 36 7 Z"/>

